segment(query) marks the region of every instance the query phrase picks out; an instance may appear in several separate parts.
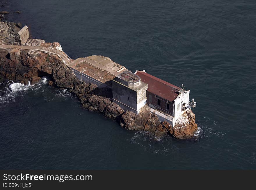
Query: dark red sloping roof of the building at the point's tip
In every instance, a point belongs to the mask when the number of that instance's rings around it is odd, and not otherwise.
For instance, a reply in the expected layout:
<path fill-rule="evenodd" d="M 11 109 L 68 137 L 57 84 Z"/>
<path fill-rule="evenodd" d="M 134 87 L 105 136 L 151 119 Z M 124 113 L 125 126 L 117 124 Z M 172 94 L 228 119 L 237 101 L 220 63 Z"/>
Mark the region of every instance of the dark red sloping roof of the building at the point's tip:
<path fill-rule="evenodd" d="M 142 71 L 137 71 L 136 75 L 141 78 L 141 81 L 147 83 L 147 91 L 151 92 L 161 98 L 164 98 L 168 101 L 174 101 L 179 95 L 179 87 L 163 81 L 160 78 L 152 76 Z M 177 92 L 177 93 L 176 93 Z"/>

